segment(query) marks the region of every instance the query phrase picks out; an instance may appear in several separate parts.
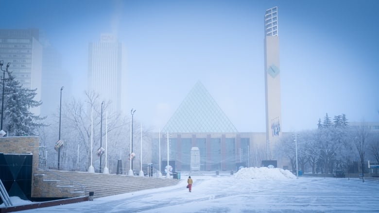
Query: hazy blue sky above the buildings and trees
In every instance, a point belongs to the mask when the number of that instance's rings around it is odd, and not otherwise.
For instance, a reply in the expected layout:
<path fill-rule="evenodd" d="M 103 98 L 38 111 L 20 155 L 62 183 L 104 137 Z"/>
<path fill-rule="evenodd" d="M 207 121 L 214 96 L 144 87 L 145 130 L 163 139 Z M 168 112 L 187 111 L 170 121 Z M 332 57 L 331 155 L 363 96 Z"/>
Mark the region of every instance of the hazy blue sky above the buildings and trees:
<path fill-rule="evenodd" d="M 377 0 L 0 0 L 1 28 L 39 28 L 86 89 L 88 42 L 124 43 L 123 109 L 156 131 L 201 81 L 238 131 L 265 131 L 263 18 L 278 6 L 282 128 L 326 113 L 379 121 Z"/>

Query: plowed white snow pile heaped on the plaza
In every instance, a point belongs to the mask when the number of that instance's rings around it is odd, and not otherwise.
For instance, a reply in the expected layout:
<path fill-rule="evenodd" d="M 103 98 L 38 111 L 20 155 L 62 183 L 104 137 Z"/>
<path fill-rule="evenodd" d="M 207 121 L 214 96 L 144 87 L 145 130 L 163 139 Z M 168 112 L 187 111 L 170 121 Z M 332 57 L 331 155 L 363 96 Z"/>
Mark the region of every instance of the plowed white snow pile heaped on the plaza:
<path fill-rule="evenodd" d="M 294 179 L 296 178 L 289 170 L 281 168 L 249 167 L 241 168 L 236 174 L 235 179 Z"/>

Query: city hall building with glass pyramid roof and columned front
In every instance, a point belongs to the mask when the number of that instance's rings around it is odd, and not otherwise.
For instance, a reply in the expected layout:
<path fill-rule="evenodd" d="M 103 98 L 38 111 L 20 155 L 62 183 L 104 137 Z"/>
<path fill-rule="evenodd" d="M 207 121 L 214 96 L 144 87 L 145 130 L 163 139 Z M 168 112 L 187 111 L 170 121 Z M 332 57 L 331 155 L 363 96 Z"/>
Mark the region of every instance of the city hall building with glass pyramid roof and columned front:
<path fill-rule="evenodd" d="M 158 150 L 160 144 L 162 167 L 169 158 L 174 171 L 191 170 L 192 147 L 199 148 L 200 171 L 235 171 L 236 166 L 260 166 L 250 155 L 262 154 L 265 148 L 258 146 L 262 142 L 265 132 L 238 132 L 205 86 L 197 82 L 162 131 L 154 133 L 152 149 Z M 158 155 L 152 154 L 155 165 Z"/>

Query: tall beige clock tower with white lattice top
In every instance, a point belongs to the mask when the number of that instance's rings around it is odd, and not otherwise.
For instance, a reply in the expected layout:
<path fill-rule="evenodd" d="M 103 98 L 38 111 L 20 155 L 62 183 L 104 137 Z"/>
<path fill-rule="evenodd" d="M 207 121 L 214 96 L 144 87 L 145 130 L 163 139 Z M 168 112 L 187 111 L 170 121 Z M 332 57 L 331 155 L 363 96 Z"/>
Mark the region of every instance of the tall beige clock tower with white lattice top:
<path fill-rule="evenodd" d="M 281 135 L 280 63 L 277 7 L 266 10 L 264 17 L 264 79 L 266 99 L 267 158 Z"/>

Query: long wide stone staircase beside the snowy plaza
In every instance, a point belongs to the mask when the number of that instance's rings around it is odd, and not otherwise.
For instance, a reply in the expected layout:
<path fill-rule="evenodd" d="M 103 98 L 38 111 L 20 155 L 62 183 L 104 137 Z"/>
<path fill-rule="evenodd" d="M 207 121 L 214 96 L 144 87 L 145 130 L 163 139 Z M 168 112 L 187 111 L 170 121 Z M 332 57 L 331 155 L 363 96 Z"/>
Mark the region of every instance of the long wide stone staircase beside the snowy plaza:
<path fill-rule="evenodd" d="M 57 187 L 71 187 L 72 197 L 88 196 L 94 192 L 94 198 L 172 186 L 180 180 L 126 176 L 115 174 L 88 173 L 80 171 L 47 170 L 44 181 L 56 180 Z"/>

